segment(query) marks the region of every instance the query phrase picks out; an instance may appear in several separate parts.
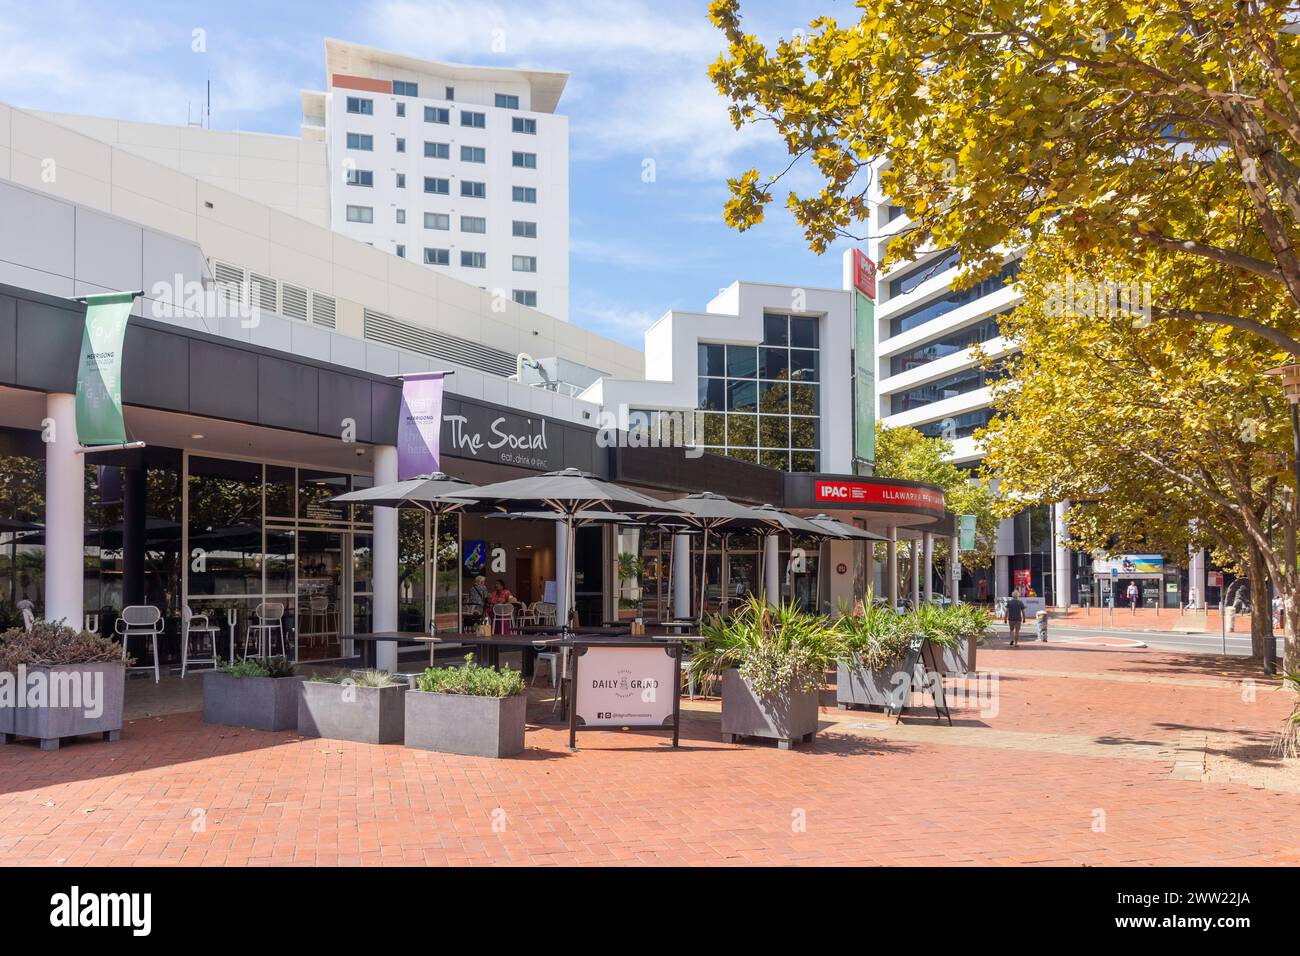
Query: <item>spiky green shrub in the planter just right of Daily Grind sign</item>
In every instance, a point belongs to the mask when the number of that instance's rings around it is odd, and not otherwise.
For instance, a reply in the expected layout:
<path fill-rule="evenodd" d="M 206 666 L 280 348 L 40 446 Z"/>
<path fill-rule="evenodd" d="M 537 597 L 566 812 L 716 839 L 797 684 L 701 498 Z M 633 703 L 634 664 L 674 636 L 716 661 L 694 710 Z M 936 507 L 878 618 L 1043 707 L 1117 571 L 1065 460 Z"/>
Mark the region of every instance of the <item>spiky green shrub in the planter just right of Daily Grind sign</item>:
<path fill-rule="evenodd" d="M 716 683 L 736 669 L 759 696 L 822 688 L 842 653 L 842 636 L 826 618 L 793 605 L 768 607 L 753 594 L 731 619 L 706 619 L 699 633 L 690 676 Z"/>

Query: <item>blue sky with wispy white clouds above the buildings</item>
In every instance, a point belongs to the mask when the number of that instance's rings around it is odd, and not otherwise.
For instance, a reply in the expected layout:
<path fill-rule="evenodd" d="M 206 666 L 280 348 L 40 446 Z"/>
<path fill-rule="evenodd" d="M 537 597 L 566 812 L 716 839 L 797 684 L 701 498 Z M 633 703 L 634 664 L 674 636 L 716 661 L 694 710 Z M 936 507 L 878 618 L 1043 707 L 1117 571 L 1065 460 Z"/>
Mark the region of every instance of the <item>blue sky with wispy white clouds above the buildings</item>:
<path fill-rule="evenodd" d="M 845 0 L 742 9 L 766 39 L 819 13 L 855 18 Z M 325 36 L 568 70 L 571 320 L 640 347 L 667 310 L 703 308 L 737 278 L 840 285 L 840 248 L 814 255 L 784 207 L 744 235 L 722 221 L 727 177 L 770 172 L 785 151 L 770 130 L 732 129 L 706 75 L 722 51 L 706 12 L 707 0 L 0 0 L 0 100 L 183 124 L 211 77 L 213 129 L 296 135 L 298 91 L 324 86 Z M 195 30 L 204 53 L 191 48 Z M 642 179 L 647 159 L 654 182 Z M 790 182 L 815 179 L 797 170 Z"/>

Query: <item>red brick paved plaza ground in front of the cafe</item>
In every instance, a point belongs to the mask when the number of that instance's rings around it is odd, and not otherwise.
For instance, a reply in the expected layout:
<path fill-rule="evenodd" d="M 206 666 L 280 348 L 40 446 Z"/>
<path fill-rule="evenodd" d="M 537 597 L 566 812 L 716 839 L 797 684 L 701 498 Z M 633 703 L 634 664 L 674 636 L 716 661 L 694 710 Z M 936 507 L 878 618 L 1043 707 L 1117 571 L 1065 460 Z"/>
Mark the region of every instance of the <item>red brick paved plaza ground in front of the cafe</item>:
<path fill-rule="evenodd" d="M 1288 697 L 1249 700 L 1242 661 L 998 641 L 979 665 L 996 714 L 829 706 L 792 752 L 722 744 L 706 700 L 677 753 L 530 724 L 503 761 L 140 717 L 0 749 L 0 865 L 1300 864 L 1300 775 L 1269 754 Z"/>

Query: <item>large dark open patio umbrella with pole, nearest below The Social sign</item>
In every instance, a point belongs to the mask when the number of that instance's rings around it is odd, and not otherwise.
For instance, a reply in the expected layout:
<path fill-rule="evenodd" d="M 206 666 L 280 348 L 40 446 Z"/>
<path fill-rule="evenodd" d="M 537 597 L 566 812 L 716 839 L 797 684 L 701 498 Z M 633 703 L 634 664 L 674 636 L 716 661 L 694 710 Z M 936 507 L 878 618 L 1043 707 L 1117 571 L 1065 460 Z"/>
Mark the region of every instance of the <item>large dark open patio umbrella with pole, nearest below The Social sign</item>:
<path fill-rule="evenodd" d="M 673 512 L 672 505 L 651 498 L 641 492 L 624 488 L 612 481 L 598 479 L 577 468 L 564 468 L 551 471 L 545 475 L 534 475 L 510 481 L 498 481 L 491 485 L 472 488 L 465 492 L 452 492 L 448 497 L 456 497 L 473 502 L 476 510 L 508 509 L 511 511 L 547 511 L 558 515 L 566 527 L 564 548 L 564 606 L 559 619 L 568 626 L 573 609 L 575 589 L 575 554 L 573 554 L 573 528 L 577 527 L 577 515 L 585 511 L 619 511 L 628 518 L 640 515 L 662 515 Z"/>

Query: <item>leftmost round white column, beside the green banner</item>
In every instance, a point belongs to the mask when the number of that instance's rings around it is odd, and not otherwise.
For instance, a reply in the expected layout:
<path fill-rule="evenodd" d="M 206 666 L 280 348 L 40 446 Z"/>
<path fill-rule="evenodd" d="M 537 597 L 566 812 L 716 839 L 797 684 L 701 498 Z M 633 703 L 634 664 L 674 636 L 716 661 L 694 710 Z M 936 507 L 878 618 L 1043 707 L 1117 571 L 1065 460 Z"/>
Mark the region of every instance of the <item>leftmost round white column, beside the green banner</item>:
<path fill-rule="evenodd" d="M 86 459 L 77 454 L 77 395 L 46 395 L 46 620 L 81 630 L 86 548 Z"/>

